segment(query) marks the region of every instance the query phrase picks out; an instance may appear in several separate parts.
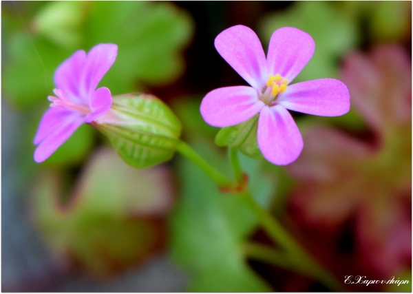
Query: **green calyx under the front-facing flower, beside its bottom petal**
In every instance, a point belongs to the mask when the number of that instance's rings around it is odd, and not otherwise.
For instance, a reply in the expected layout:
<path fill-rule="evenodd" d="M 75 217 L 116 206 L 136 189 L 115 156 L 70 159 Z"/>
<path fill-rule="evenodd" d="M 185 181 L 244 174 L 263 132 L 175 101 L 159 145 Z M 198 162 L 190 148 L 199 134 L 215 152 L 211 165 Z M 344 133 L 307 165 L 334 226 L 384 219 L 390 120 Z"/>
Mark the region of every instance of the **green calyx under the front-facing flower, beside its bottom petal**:
<path fill-rule="evenodd" d="M 223 127 L 215 137 L 218 146 L 237 147 L 243 154 L 254 159 L 264 159 L 257 142 L 258 114 L 231 127 Z"/>

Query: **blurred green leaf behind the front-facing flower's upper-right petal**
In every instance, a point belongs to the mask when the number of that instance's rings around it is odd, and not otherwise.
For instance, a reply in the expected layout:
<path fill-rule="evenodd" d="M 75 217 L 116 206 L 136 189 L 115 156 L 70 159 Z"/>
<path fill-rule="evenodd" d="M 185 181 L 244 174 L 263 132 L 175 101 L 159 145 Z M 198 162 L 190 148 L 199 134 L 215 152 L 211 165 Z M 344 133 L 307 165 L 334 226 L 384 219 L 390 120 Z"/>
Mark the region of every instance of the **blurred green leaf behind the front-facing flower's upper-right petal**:
<path fill-rule="evenodd" d="M 260 30 L 268 44 L 275 30 L 295 27 L 308 32 L 315 41 L 315 53 L 294 82 L 337 77 L 338 59 L 354 48 L 358 41 L 357 26 L 329 2 L 298 1 L 285 11 L 266 15 Z"/>

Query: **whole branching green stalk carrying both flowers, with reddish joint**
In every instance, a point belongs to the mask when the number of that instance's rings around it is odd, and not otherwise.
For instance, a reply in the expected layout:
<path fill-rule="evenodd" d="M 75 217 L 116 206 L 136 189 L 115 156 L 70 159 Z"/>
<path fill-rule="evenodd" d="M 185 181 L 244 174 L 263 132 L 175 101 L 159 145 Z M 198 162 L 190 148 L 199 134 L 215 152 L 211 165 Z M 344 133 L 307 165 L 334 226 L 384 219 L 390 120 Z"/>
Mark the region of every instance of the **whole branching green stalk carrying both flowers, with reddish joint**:
<path fill-rule="evenodd" d="M 235 185 L 226 178 L 226 176 L 220 173 L 218 169 L 215 169 L 215 167 L 210 165 L 207 160 L 202 158 L 202 156 L 193 150 L 187 143 L 181 141 L 177 150 L 180 154 L 200 167 L 205 174 L 215 181 L 218 187 L 242 187 L 242 189 L 239 190 L 230 189 L 229 191 L 239 193 L 240 198 L 243 200 L 246 207 L 253 212 L 264 231 L 266 231 L 271 240 L 282 249 L 275 250 L 260 244 L 246 243 L 244 244 L 244 253 L 247 257 L 310 275 L 321 281 L 328 288 L 335 289 L 336 291 L 346 291 L 346 288 L 331 273 L 324 269 L 323 266 L 319 265 L 297 242 L 295 242 L 290 234 L 282 227 L 282 224 L 271 216 L 271 213 L 255 202 L 248 189 L 248 183 L 244 183 L 244 173 L 240 161 L 238 160 L 236 148 L 229 148 L 229 161 L 236 180 Z"/>

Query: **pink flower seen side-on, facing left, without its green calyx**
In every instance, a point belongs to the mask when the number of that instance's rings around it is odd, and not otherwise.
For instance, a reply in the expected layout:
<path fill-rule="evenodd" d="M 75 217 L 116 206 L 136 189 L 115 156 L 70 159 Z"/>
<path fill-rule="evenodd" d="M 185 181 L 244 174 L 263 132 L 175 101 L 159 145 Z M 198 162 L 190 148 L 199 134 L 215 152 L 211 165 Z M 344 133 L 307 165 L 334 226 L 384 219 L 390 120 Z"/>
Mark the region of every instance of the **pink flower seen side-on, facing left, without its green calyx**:
<path fill-rule="evenodd" d="M 86 55 L 75 52 L 54 73 L 55 96 L 50 109 L 41 119 L 34 137 L 34 160 L 42 162 L 53 154 L 83 123 L 105 114 L 112 105 L 112 95 L 107 87 L 96 89 L 98 83 L 112 66 L 118 54 L 115 44 L 96 45 Z"/>

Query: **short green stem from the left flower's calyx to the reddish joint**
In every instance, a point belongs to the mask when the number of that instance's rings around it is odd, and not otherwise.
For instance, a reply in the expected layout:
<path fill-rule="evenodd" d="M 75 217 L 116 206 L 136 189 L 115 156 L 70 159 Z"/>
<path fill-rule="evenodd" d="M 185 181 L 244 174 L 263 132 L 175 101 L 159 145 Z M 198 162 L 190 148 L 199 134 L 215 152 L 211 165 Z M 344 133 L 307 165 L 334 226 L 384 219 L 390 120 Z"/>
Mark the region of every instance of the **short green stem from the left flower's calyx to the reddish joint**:
<path fill-rule="evenodd" d="M 197 165 L 205 174 L 210 176 L 218 185 L 218 187 L 228 187 L 231 185 L 231 181 L 226 178 L 223 174 L 221 174 L 218 169 L 215 169 L 212 165 L 204 160 L 195 150 L 192 149 L 187 143 L 180 141 L 177 150 L 183 156 L 187 157 L 191 160 L 195 165 Z"/>

